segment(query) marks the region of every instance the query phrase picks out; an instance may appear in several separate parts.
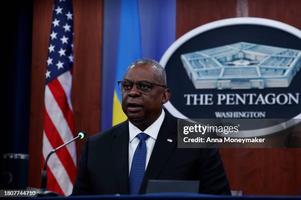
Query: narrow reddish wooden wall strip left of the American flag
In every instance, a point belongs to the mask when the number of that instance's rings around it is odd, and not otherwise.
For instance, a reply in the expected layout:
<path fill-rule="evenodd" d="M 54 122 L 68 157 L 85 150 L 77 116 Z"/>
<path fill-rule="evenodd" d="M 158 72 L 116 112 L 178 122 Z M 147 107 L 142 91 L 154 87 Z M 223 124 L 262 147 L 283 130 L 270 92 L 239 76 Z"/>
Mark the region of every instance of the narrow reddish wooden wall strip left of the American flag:
<path fill-rule="evenodd" d="M 53 2 L 35 0 L 33 3 L 28 185 L 38 188 L 41 183 L 45 73 Z"/>

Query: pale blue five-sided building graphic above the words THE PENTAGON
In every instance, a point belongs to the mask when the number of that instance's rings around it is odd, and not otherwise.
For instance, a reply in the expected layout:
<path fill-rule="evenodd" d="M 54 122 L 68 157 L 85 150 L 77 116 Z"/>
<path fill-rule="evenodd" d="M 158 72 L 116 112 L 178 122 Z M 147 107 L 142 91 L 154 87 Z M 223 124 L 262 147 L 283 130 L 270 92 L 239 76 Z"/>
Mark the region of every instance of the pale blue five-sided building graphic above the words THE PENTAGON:
<path fill-rule="evenodd" d="M 301 67 L 301 51 L 239 42 L 181 55 L 196 89 L 288 87 Z"/>

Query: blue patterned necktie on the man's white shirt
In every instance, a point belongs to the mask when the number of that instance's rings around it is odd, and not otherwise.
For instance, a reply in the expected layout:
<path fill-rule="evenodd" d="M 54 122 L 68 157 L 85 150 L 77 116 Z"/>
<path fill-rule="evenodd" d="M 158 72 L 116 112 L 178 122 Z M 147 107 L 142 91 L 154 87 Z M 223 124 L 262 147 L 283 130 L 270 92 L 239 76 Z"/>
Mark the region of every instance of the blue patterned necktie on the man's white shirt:
<path fill-rule="evenodd" d="M 139 194 L 140 186 L 145 173 L 147 155 L 146 140 L 148 139 L 149 135 L 146 133 L 139 133 L 137 137 L 139 138 L 140 142 L 135 150 L 129 175 L 130 195 Z"/>

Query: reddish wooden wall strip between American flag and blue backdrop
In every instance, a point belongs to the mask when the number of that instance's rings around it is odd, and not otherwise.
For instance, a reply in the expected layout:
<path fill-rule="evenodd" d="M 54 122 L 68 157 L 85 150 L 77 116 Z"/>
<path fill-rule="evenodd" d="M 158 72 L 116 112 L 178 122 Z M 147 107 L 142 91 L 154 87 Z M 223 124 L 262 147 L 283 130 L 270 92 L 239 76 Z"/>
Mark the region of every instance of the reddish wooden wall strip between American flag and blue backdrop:
<path fill-rule="evenodd" d="M 74 66 L 71 100 L 75 131 L 87 136 L 100 130 L 102 0 L 73 0 Z M 76 143 L 77 155 L 84 141 Z"/>

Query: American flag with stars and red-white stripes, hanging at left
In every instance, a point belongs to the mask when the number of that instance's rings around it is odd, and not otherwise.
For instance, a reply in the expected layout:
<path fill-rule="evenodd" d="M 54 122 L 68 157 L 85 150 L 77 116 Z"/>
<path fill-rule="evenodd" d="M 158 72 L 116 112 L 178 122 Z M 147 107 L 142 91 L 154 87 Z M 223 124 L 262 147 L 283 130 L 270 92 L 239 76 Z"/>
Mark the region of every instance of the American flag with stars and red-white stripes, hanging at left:
<path fill-rule="evenodd" d="M 47 154 L 74 137 L 70 100 L 73 66 L 72 0 L 55 0 L 50 31 L 44 100 L 43 162 Z M 76 147 L 54 153 L 47 166 L 48 190 L 70 195 L 76 176 Z"/>

